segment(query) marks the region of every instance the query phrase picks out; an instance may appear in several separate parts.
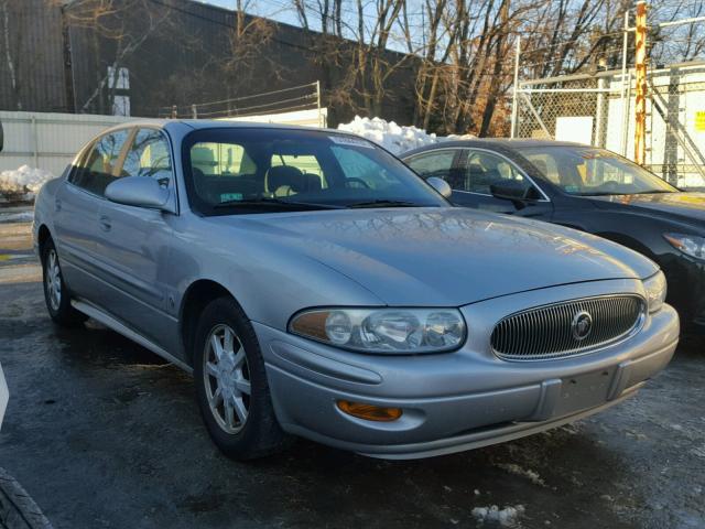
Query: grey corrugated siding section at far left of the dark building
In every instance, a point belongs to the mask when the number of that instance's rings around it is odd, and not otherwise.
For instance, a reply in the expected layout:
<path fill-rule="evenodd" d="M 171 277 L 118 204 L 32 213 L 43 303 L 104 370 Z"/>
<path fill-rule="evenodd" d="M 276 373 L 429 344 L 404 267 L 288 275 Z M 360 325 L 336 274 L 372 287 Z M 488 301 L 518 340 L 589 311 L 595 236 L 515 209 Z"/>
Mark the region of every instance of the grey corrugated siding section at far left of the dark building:
<path fill-rule="evenodd" d="M 0 108 L 66 111 L 62 13 L 46 0 L 6 2 L 10 56 L 17 89 L 12 89 L 0 9 Z"/>

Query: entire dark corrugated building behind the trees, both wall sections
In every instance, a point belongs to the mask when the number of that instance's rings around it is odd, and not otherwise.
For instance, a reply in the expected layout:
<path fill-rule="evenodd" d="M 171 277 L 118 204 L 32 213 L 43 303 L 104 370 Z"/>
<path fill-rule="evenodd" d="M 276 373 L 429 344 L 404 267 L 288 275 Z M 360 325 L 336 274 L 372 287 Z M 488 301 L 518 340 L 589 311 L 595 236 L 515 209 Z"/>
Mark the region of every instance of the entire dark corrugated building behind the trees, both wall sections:
<path fill-rule="evenodd" d="M 117 41 L 91 31 L 85 24 L 72 22 L 76 9 L 80 6 L 89 8 L 90 4 L 69 3 L 64 8 L 70 69 L 65 67 L 66 46 L 62 35 L 61 10 L 47 7 L 47 0 L 15 0 L 9 1 L 8 6 L 17 13 L 10 25 L 15 28 L 15 34 L 24 35 L 22 48 L 25 52 L 21 66 L 24 68 L 23 75 L 29 77 L 22 84 L 22 89 L 26 91 L 23 109 L 112 114 L 105 88 L 98 90 L 98 97 L 91 99 L 91 95 L 105 78 L 108 66 L 116 61 Z M 144 34 L 149 20 L 145 12 L 148 8 L 150 12 L 154 10 L 158 19 L 169 13 L 139 51 L 123 57 L 118 64 L 118 67 L 127 67 L 130 72 L 130 88 L 120 95 L 130 97 L 132 116 L 155 117 L 160 110 L 162 115 L 167 114 L 165 109 L 172 105 L 183 109 L 192 104 L 251 96 L 318 79 L 322 82 L 324 105 L 330 110 L 330 125 L 347 121 L 361 110 L 358 106 L 361 106 L 361 96 L 357 94 L 352 94 L 352 99 L 358 105 L 341 104 L 339 100 L 329 105 L 325 97 L 346 76 L 346 63 L 354 48 L 351 42 L 347 57 L 332 60 L 328 67 L 324 67 L 325 57 L 319 57 L 315 51 L 319 34 L 272 22 L 272 39 L 258 50 L 261 60 L 253 61 L 251 68 L 234 72 L 226 67 L 228 61 L 232 60 L 232 11 L 191 0 L 152 0 L 143 4 L 111 0 L 110 6 L 115 8 L 115 14 L 106 17 L 102 23 L 124 28 L 133 37 L 124 42 L 132 42 Z M 123 9 L 126 7 L 129 9 Z M 32 67 L 28 68 L 28 64 Z M 411 120 L 414 108 L 413 80 L 413 67 L 399 68 L 392 75 L 390 86 L 393 88 L 387 91 L 381 117 L 400 122 Z M 66 108 L 72 95 L 75 106 Z M 256 105 L 257 101 L 251 104 Z M 2 56 L 0 109 L 17 110 Z"/>

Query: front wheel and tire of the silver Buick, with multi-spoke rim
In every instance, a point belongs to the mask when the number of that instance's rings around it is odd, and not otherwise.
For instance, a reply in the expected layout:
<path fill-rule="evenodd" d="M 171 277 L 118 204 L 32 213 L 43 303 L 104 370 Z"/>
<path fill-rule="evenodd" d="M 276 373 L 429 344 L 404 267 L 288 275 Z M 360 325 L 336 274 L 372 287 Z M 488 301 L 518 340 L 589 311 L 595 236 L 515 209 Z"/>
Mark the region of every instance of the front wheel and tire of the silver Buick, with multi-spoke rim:
<path fill-rule="evenodd" d="M 216 446 L 238 461 L 283 450 L 289 436 L 274 414 L 259 342 L 235 300 L 206 305 L 194 347 L 196 398 Z"/>

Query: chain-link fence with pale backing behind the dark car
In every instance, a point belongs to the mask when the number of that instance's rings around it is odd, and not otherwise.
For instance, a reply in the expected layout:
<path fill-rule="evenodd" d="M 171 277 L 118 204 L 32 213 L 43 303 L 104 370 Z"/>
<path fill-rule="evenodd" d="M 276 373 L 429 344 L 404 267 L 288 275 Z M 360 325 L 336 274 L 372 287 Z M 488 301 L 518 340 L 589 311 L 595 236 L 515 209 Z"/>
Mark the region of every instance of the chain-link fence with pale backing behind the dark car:
<path fill-rule="evenodd" d="M 673 185 L 705 188 L 705 63 L 649 72 L 644 166 Z M 601 72 L 523 80 L 517 138 L 577 141 L 627 158 L 634 152 L 634 80 Z"/>

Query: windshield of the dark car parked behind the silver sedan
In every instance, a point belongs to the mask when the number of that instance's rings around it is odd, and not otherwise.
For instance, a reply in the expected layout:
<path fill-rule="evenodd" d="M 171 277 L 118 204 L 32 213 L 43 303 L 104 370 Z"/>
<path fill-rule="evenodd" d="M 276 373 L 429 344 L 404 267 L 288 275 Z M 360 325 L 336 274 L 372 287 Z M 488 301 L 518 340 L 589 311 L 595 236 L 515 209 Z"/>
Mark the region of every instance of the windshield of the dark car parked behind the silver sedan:
<path fill-rule="evenodd" d="M 674 193 L 677 190 L 614 152 L 593 147 L 518 149 L 542 174 L 566 193 L 581 196 Z"/>

